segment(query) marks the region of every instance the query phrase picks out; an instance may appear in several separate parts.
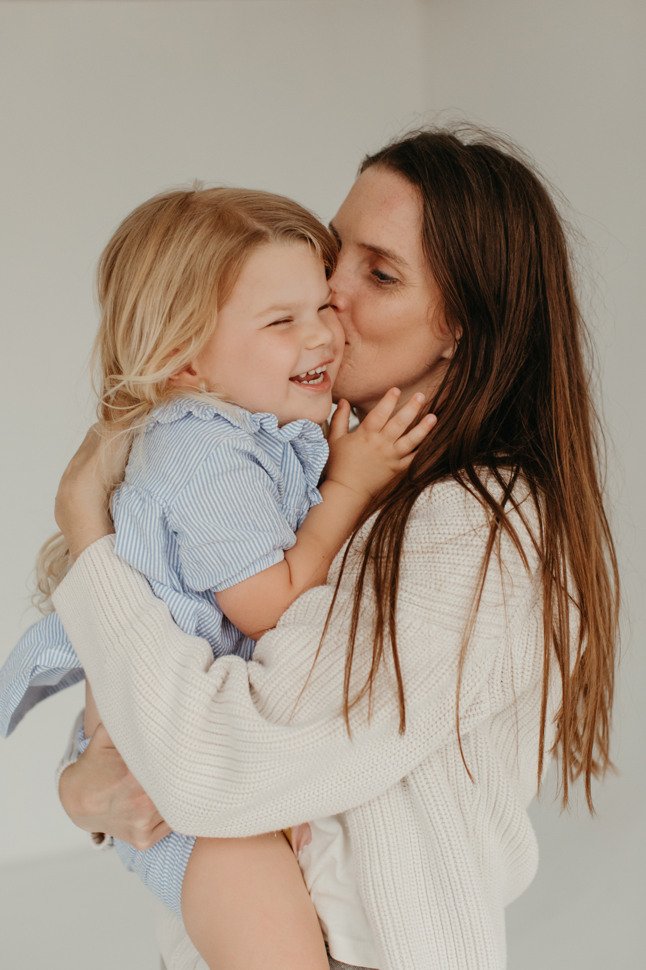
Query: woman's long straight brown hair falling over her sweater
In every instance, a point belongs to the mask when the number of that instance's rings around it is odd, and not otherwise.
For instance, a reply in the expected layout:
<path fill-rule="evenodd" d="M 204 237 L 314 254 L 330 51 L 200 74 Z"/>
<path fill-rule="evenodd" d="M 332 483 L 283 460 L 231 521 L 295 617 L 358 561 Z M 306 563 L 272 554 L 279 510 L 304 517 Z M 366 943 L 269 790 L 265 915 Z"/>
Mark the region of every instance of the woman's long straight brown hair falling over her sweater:
<path fill-rule="evenodd" d="M 460 680 L 468 634 L 501 531 L 527 562 L 506 510 L 516 508 L 513 486 L 521 476 L 537 514 L 533 543 L 542 570 L 537 783 L 539 787 L 545 759 L 550 664 L 556 661 L 562 705 L 554 750 L 561 762 L 562 801 L 565 806 L 568 782 L 583 775 L 592 811 L 591 777 L 611 763 L 619 581 L 603 506 L 602 435 L 590 394 L 589 339 L 574 294 L 564 223 L 532 165 L 486 132 L 421 130 L 368 156 L 360 172 L 374 165 L 399 173 L 420 194 L 429 269 L 443 298 L 447 325 L 460 339 L 427 408 L 437 415 L 436 431 L 420 446 L 404 477 L 363 518 L 366 522 L 376 512 L 354 593 L 343 701 L 346 723 L 349 727 L 349 712 L 360 697 L 371 694 L 389 650 L 404 731 L 395 617 L 406 522 L 425 489 L 453 478 L 485 505 L 491 523 L 459 661 L 460 739 Z M 502 499 L 488 487 L 492 482 L 501 487 Z M 517 511 L 527 525 L 522 510 Z M 346 559 L 347 550 L 341 574 Z M 363 688 L 350 697 L 369 576 L 376 608 L 371 671 Z M 579 621 L 574 637 L 573 609 Z"/>

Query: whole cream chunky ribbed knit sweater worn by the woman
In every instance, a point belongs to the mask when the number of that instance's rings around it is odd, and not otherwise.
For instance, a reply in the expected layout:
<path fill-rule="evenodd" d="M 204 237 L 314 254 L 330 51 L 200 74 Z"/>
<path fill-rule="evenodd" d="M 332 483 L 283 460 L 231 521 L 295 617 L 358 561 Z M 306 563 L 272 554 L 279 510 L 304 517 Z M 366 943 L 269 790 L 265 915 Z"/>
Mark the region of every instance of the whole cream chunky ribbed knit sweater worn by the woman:
<path fill-rule="evenodd" d="M 397 616 L 403 736 L 389 663 L 371 720 L 362 702 L 348 738 L 340 716 L 356 557 L 313 670 L 336 565 L 249 663 L 213 663 L 209 644 L 181 632 L 117 559 L 112 537 L 82 554 L 54 597 L 116 747 L 173 828 L 242 836 L 346 813 L 381 970 L 504 967 L 504 906 L 536 869 L 526 807 L 536 787 L 542 619 L 529 540 L 528 572 L 502 537 L 469 641 L 460 726 L 473 783 L 456 737 L 457 661 L 487 534 L 480 503 L 454 482 L 413 509 Z M 371 652 L 370 598 L 357 648 L 355 686 Z"/>

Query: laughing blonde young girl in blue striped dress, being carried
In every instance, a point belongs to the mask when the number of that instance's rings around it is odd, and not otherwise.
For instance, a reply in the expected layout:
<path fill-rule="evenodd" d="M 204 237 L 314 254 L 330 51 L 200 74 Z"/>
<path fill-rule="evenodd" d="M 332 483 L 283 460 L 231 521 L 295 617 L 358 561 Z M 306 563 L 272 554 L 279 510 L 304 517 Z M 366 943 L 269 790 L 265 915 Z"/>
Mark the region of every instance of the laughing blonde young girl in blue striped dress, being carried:
<path fill-rule="evenodd" d="M 348 436 L 349 405 L 340 402 L 328 451 L 320 425 L 343 349 L 328 303 L 335 261 L 335 243 L 307 210 L 239 189 L 155 197 L 124 220 L 101 258 L 100 419 L 107 436 L 132 445 L 112 501 L 115 549 L 182 630 L 209 640 L 213 657 L 247 661 L 289 605 L 325 582 L 366 502 L 406 468 L 435 423 L 426 418 L 406 434 L 423 396 L 391 417 L 392 389 Z M 66 554 L 46 547 L 44 592 Z M 3 733 L 81 677 L 51 614 L 0 674 Z M 86 691 L 81 748 L 100 721 Z M 182 765 L 174 770 L 180 781 Z M 195 840 L 173 832 L 145 852 L 116 847 L 183 917 L 211 968 L 328 966 L 282 833 Z M 224 894 L 233 908 L 218 906 Z"/>

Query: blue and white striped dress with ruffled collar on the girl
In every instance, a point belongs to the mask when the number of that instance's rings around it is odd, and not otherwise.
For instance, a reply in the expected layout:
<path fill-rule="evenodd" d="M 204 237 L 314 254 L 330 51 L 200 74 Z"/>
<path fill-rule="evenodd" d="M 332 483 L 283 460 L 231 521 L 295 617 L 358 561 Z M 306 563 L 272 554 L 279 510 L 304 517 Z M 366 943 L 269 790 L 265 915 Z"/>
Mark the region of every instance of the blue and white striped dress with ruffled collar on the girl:
<path fill-rule="evenodd" d="M 178 398 L 153 414 L 133 446 L 113 497 L 115 550 L 144 573 L 181 630 L 209 640 L 214 658 L 248 660 L 254 642 L 223 615 L 214 594 L 283 559 L 321 501 L 316 485 L 327 457 L 311 421 L 279 428 L 274 414 Z M 83 676 L 56 614 L 34 624 L 0 669 L 0 733 L 7 737 L 31 707 Z M 79 738 L 81 750 L 87 743 Z M 173 832 L 146 852 L 114 845 L 180 917 L 194 841 Z"/>

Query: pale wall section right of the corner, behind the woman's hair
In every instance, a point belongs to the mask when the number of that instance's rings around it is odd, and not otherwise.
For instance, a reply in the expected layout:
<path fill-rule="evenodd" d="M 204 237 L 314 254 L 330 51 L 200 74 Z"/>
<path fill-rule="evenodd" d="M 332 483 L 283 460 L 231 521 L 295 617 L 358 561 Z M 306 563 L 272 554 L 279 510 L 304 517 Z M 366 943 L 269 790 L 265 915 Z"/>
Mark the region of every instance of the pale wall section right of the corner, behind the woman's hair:
<path fill-rule="evenodd" d="M 625 613 L 613 732 L 619 775 L 598 818 L 531 815 L 538 875 L 507 911 L 512 970 L 644 966 L 646 943 L 646 5 L 641 0 L 429 0 L 426 110 L 457 108 L 533 152 L 592 242 L 586 303 L 615 456 L 609 491 Z"/>

